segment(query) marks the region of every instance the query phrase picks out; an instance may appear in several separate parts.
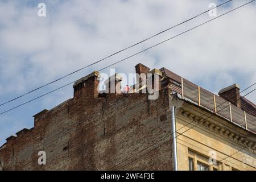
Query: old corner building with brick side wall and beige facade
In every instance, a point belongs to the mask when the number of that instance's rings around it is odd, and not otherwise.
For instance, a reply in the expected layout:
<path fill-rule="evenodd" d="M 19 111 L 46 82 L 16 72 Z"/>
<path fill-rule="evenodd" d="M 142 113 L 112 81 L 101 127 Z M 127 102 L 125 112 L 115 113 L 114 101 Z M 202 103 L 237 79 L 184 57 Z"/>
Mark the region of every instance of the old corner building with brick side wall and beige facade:
<path fill-rule="evenodd" d="M 150 72 L 142 64 L 135 68 Z M 255 170 L 256 106 L 240 99 L 238 85 L 220 90 L 228 107 L 218 110 L 221 97 L 166 68 L 151 73 L 159 75 L 156 100 L 148 93 L 99 94 L 98 72 L 76 81 L 73 98 L 34 115 L 32 129 L 6 139 L 0 170 L 172 170 L 173 105 L 180 170 Z M 46 152 L 45 165 L 38 164 L 39 151 Z M 217 162 L 210 165 L 212 151 Z"/>

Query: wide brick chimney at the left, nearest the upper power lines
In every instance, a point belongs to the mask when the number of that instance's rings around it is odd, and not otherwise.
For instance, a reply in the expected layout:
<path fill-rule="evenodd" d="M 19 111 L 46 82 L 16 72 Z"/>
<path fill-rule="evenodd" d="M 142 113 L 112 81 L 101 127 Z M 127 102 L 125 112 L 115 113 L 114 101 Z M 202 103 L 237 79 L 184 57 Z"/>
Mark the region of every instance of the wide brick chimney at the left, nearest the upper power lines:
<path fill-rule="evenodd" d="M 77 80 L 73 85 L 74 98 L 80 97 L 89 100 L 98 97 L 98 84 L 100 83 L 98 80 L 99 75 L 99 72 L 94 71 Z"/>

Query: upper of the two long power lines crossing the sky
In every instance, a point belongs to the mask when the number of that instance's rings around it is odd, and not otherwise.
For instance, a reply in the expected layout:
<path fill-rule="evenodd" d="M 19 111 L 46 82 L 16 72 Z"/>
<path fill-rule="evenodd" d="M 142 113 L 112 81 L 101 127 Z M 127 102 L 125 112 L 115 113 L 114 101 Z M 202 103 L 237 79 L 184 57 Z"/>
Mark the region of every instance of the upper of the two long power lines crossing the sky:
<path fill-rule="evenodd" d="M 232 1 L 232 0 L 229 0 L 229 1 L 226 1 L 226 2 L 224 2 L 224 3 L 221 3 L 220 5 L 218 5 L 218 6 L 216 6 L 216 7 L 220 7 L 220 6 L 222 6 L 222 5 L 225 5 L 226 3 L 230 2 L 230 1 Z M 80 69 L 77 69 L 76 71 L 73 71 L 73 72 L 71 72 L 71 73 L 68 73 L 67 75 L 64 75 L 64 76 L 62 76 L 62 77 L 60 77 L 60 78 L 57 78 L 56 80 L 53 80 L 53 81 L 51 81 L 51 82 L 48 82 L 47 84 L 44 84 L 44 85 L 42 85 L 42 86 L 39 86 L 38 88 L 35 88 L 35 89 L 33 89 L 33 90 L 30 90 L 30 91 L 27 92 L 27 93 L 24 93 L 24 94 L 22 94 L 22 95 L 20 95 L 20 96 L 18 96 L 18 97 L 15 97 L 15 98 L 13 98 L 13 99 L 11 99 L 11 100 L 9 100 L 9 101 L 3 102 L 2 104 L 0 104 L 0 106 L 5 105 L 5 104 L 7 104 L 7 103 L 9 103 L 9 102 L 12 102 L 12 101 L 14 101 L 14 100 L 17 100 L 17 99 L 20 98 L 20 97 L 23 97 L 23 96 L 26 96 L 27 94 L 30 94 L 30 93 L 32 93 L 32 92 L 35 92 L 36 90 L 39 90 L 39 89 L 41 89 L 41 88 L 44 88 L 44 87 L 47 86 L 47 85 L 53 84 L 54 82 L 59 81 L 59 80 L 65 78 L 65 77 L 68 77 L 68 76 L 70 76 L 70 75 L 73 75 L 74 73 L 79 72 L 79 71 L 81 71 L 82 69 L 85 69 L 85 68 L 88 68 L 88 67 L 90 67 L 90 66 L 92 66 L 92 65 L 94 65 L 94 64 L 100 63 L 101 61 L 103 61 L 103 60 L 105 60 L 105 59 L 108 59 L 109 57 L 112 57 L 112 56 L 114 56 L 114 55 L 117 55 L 117 54 L 120 53 L 120 52 L 126 51 L 127 49 L 129 49 L 129 48 L 131 48 L 131 47 L 134 47 L 134 46 L 137 46 L 138 44 L 141 44 L 141 43 L 143 43 L 143 42 L 146 42 L 147 40 L 152 39 L 152 38 L 154 38 L 155 36 L 158 36 L 158 35 L 160 35 L 160 34 L 163 34 L 163 32 L 166 32 L 166 31 L 168 31 L 168 30 L 171 30 L 172 28 L 175 28 L 175 27 L 177 27 L 177 26 L 180 26 L 181 24 L 184 24 L 184 23 L 186 23 L 186 22 L 189 22 L 190 20 L 195 19 L 195 18 L 197 18 L 198 16 L 201 16 L 201 15 L 207 13 L 208 11 L 215 9 L 216 7 L 213 7 L 212 9 L 208 9 L 208 10 L 204 11 L 203 13 L 200 13 L 200 14 L 198 14 L 198 15 L 196 15 L 196 16 L 193 16 L 192 18 L 189 18 L 189 19 L 187 19 L 187 20 L 184 20 L 183 22 L 181 22 L 181 23 L 179 23 L 179 24 L 176 24 L 175 26 L 172 26 L 172 27 L 170 27 L 170 28 L 167 28 L 166 30 L 160 31 L 160 32 L 158 32 L 157 34 L 154 34 L 154 35 L 152 35 L 152 36 L 150 36 L 150 37 L 148 37 L 148 38 L 146 38 L 146 39 L 141 40 L 140 42 L 137 42 L 137 43 L 135 43 L 135 44 L 133 44 L 133 45 L 131 45 L 131 46 L 129 46 L 129 47 L 123 48 L 123 49 L 121 49 L 120 51 L 114 52 L 114 53 L 112 53 L 112 54 L 109 55 L 109 56 L 106 56 L 106 57 L 104 57 L 104 58 L 102 58 L 102 59 L 100 59 L 100 60 L 98 60 L 98 61 L 95 61 L 95 62 L 92 63 L 92 64 L 86 65 L 85 67 L 82 67 L 82 68 L 80 68 Z"/>

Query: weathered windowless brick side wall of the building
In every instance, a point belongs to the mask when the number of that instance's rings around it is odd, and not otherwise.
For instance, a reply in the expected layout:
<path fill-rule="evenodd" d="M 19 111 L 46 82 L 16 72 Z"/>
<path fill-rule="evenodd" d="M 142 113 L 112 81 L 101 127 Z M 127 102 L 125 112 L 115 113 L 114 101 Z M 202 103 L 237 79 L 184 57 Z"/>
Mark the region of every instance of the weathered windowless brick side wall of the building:
<path fill-rule="evenodd" d="M 0 150 L 5 170 L 172 169 L 171 139 L 160 140 L 171 130 L 168 89 L 148 100 L 147 94 L 96 97 L 93 77 L 86 85 L 7 141 Z M 41 150 L 46 165 L 38 164 Z"/>

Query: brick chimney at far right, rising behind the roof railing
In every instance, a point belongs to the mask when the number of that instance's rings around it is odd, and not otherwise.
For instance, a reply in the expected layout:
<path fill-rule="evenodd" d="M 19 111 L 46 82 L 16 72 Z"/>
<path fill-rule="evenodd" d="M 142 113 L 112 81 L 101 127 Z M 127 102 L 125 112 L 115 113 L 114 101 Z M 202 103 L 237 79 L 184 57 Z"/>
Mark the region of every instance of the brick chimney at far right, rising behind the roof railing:
<path fill-rule="evenodd" d="M 221 89 L 218 92 L 218 94 L 220 97 L 222 97 L 225 100 L 236 105 L 238 108 L 241 108 L 240 86 L 239 85 L 237 85 L 237 84 L 230 85 L 224 89 Z"/>

